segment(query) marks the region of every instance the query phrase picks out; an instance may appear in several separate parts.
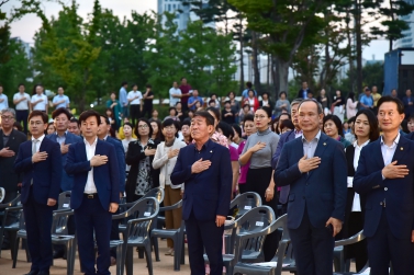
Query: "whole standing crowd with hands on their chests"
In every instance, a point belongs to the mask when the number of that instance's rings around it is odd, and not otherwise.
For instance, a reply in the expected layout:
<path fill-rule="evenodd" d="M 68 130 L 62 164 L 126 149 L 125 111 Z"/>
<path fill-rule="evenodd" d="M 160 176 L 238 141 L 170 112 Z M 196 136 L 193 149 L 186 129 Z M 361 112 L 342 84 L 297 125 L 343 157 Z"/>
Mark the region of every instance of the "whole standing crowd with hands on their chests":
<path fill-rule="evenodd" d="M 111 93 L 104 114 L 76 118 L 60 87 L 49 104 L 42 85 L 35 94 L 19 85 L 14 108 L 0 85 L 0 187 L 3 203 L 21 194 L 32 266 L 27 275 L 49 274 L 51 228 L 58 194 L 71 191 L 75 210 L 68 229 L 78 233 L 85 274 L 110 274 L 119 239 L 120 199 L 136 202 L 149 190 L 165 191 L 166 228 L 186 221 L 192 274 L 223 272 L 224 221 L 230 202 L 256 192 L 276 215 L 288 214 L 298 274 L 332 274 L 334 242 L 363 229 L 366 240 L 345 249 L 360 271 L 398 275 L 414 270 L 414 96 L 407 90 L 381 96 L 365 88 L 359 100 L 340 91 L 331 99 L 303 82 L 295 100 L 286 92 L 272 101 L 250 82 L 240 101 L 200 95 L 186 78 L 169 90 L 168 116 L 159 119 L 154 92 L 127 82 Z M 48 107 L 54 106 L 52 121 Z M 30 139 L 27 140 L 27 134 Z M 13 220 L 14 218 L 14 220 Z M 15 221 L 10 217 L 7 222 Z M 278 249 L 278 231 L 267 236 L 265 261 Z M 98 259 L 94 256 L 94 240 Z M 10 245 L 4 236 L 2 249 Z M 168 240 L 166 255 L 174 255 Z"/>

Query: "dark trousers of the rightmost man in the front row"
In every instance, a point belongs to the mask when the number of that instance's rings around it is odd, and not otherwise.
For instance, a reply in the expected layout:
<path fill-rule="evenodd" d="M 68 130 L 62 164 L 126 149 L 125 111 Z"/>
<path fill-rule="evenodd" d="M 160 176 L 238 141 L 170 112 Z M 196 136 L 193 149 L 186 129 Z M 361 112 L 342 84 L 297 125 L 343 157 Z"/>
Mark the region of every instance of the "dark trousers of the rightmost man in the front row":
<path fill-rule="evenodd" d="M 367 238 L 367 241 L 371 274 L 389 274 L 390 261 L 395 275 L 413 274 L 414 243 L 411 242 L 411 238 L 398 239 L 392 234 L 385 209 L 382 210 L 376 234 Z"/>

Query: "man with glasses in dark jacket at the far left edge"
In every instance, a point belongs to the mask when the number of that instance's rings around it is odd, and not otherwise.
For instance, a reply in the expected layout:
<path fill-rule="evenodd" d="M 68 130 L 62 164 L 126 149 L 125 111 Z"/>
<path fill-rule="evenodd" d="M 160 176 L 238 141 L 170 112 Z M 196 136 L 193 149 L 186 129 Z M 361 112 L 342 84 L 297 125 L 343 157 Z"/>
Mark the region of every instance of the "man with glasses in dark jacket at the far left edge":
<path fill-rule="evenodd" d="M 13 108 L 4 108 L 1 112 L 0 129 L 0 187 L 5 191 L 4 203 L 13 200 L 18 196 L 18 185 L 22 183 L 22 174 L 14 172 L 14 161 L 18 156 L 19 147 L 27 141 L 26 135 L 13 129 L 15 112 Z M 5 180 L 7 179 L 7 180 Z M 10 217 L 10 215 L 9 215 Z M 16 221 L 16 216 L 8 218 L 7 225 Z M 7 231 L 4 232 L 7 233 Z M 9 249 L 9 236 L 5 234 L 1 249 Z"/>

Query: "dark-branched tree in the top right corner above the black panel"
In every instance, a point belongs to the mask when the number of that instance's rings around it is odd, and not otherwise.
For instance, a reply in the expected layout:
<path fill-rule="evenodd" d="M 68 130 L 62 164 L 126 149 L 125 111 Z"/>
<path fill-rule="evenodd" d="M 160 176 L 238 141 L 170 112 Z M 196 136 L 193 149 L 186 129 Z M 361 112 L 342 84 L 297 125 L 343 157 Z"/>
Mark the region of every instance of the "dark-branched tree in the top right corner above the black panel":
<path fill-rule="evenodd" d="M 387 5 L 385 5 L 387 2 Z M 409 3 L 404 0 L 388 0 L 379 1 L 379 13 L 385 18 L 381 21 L 383 30 L 378 26 L 372 26 L 371 32 L 373 35 L 383 36 L 390 42 L 390 50 L 392 50 L 392 43 L 396 39 L 403 38 L 405 35 L 403 31 L 410 30 L 406 21 L 399 19 L 399 16 L 409 15 L 414 11 L 414 3 Z"/>

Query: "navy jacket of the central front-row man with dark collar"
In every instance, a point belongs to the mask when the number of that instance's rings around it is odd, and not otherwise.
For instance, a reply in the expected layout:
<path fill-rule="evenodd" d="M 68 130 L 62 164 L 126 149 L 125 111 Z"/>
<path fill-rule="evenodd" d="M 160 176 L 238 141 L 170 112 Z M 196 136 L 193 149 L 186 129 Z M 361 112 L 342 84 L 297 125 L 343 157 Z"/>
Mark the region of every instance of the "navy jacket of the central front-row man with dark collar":
<path fill-rule="evenodd" d="M 191 165 L 200 158 L 210 160 L 211 167 L 193 174 Z M 186 185 L 182 219 L 189 219 L 191 211 L 198 220 L 215 220 L 216 215 L 227 216 L 233 174 L 230 150 L 224 146 L 209 139 L 200 152 L 194 144 L 181 148 L 170 179 L 174 185 Z"/>

